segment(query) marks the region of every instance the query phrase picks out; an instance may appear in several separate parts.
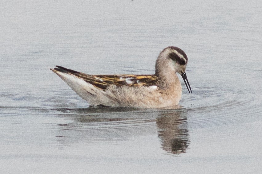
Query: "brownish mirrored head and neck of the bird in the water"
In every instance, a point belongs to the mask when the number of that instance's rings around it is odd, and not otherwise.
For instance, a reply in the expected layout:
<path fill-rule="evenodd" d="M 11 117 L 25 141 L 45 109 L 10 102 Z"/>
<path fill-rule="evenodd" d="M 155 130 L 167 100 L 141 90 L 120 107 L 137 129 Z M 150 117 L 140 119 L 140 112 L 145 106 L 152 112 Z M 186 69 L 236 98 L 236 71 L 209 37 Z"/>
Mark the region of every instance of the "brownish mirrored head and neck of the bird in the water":
<path fill-rule="evenodd" d="M 157 117 L 156 124 L 163 150 L 173 154 L 186 152 L 190 143 L 186 113 L 162 113 Z"/>

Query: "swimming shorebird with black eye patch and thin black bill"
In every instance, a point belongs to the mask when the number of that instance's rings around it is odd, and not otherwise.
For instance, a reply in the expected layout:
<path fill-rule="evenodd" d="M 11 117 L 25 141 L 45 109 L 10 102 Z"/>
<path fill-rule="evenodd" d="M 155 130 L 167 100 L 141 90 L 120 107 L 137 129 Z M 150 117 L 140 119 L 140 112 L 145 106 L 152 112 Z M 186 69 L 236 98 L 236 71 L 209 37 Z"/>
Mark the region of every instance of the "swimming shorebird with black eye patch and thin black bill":
<path fill-rule="evenodd" d="M 153 75 L 89 75 L 62 66 L 50 68 L 89 107 L 111 106 L 131 108 L 165 108 L 179 104 L 182 85 L 179 73 L 192 93 L 186 75 L 188 58 L 182 49 L 174 46 L 164 48 L 156 59 Z"/>

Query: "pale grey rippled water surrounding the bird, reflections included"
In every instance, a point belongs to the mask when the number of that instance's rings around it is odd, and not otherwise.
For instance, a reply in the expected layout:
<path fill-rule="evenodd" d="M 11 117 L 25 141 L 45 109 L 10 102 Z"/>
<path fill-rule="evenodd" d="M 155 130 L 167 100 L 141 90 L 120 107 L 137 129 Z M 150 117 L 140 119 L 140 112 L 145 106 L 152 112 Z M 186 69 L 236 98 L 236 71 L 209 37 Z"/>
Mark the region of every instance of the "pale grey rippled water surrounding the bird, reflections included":
<path fill-rule="evenodd" d="M 261 1 L 1 1 L 0 173 L 262 173 Z M 168 110 L 88 108 L 49 70 L 153 74 L 187 53 Z"/>

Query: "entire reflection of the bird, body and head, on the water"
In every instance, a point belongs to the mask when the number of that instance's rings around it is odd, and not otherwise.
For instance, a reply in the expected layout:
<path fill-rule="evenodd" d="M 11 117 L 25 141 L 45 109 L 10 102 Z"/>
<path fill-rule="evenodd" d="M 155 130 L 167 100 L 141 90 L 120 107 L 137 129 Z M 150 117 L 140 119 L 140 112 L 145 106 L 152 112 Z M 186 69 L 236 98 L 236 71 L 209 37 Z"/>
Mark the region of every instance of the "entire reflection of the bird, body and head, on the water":
<path fill-rule="evenodd" d="M 187 117 L 183 109 L 138 110 L 95 107 L 59 109 L 58 116 L 75 122 L 59 124 L 59 146 L 86 142 L 128 141 L 131 137 L 158 134 L 162 149 L 172 154 L 186 152 L 189 145 Z M 62 144 L 61 144 L 62 143 Z M 141 144 L 144 145 L 144 144 Z M 95 148 L 95 147 L 94 147 Z"/>

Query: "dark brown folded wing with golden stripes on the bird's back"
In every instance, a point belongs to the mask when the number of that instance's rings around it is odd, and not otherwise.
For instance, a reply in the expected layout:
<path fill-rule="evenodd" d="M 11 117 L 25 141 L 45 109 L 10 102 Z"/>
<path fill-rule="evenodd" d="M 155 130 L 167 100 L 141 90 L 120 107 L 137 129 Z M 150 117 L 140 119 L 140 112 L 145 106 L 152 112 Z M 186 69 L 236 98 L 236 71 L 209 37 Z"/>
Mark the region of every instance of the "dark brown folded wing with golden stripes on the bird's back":
<path fill-rule="evenodd" d="M 156 75 L 130 75 L 130 74 L 89 75 L 82 72 L 77 72 L 71 69 L 67 69 L 61 66 L 56 66 L 54 70 L 63 73 L 73 74 L 102 90 L 105 90 L 109 85 L 116 85 L 116 86 L 124 85 L 129 87 L 153 86 L 156 85 L 158 80 Z"/>

